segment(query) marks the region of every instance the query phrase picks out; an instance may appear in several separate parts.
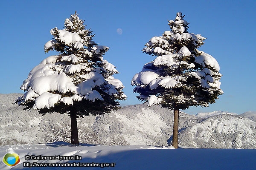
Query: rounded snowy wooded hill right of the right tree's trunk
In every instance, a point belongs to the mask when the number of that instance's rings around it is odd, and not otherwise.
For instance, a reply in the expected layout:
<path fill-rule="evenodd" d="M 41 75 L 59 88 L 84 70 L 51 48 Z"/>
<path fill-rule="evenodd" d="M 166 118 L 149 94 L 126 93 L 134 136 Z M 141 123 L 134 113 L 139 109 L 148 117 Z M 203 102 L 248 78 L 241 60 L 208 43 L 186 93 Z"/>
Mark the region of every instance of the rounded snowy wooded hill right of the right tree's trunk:
<path fill-rule="evenodd" d="M 220 114 L 180 132 L 180 143 L 202 148 L 256 148 L 256 122 Z"/>

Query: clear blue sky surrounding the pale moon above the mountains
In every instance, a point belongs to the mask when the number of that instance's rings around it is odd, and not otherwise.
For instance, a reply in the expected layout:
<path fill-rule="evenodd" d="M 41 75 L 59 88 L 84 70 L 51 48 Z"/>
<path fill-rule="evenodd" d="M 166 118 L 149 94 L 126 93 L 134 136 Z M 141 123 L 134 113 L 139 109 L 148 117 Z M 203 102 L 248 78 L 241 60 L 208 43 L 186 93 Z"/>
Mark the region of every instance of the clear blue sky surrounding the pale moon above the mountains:
<path fill-rule="evenodd" d="M 115 77 L 123 82 L 128 96 L 121 105 L 139 104 L 131 79 L 155 58 L 141 50 L 151 37 L 169 30 L 168 20 L 181 11 L 190 23 L 188 31 L 207 38 L 200 50 L 217 59 L 224 91 L 215 104 L 185 112 L 256 111 L 255 9 L 255 0 L 2 1 L 0 93 L 23 93 L 19 88 L 29 71 L 56 54 L 44 53 L 44 44 L 52 39 L 50 29 L 62 29 L 64 20 L 77 11 L 86 28 L 96 34 L 93 40 L 110 47 L 104 58 L 117 67 L 120 74 Z"/>

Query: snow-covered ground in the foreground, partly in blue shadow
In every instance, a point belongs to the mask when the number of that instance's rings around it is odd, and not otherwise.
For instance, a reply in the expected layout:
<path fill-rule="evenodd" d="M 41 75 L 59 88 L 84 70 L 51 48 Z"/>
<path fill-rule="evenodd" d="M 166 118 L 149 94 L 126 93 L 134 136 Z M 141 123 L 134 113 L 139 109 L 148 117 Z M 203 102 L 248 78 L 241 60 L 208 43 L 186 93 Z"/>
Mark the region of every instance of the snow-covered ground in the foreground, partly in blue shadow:
<path fill-rule="evenodd" d="M 0 159 L 10 150 L 20 156 L 20 163 L 12 170 L 76 170 L 85 167 L 23 167 L 23 162 L 64 163 L 67 161 L 25 161 L 25 156 L 81 156 L 80 163 L 116 163 L 110 170 L 255 170 L 256 150 L 253 149 L 193 149 L 154 146 L 99 146 L 65 142 L 0 146 Z M 100 167 L 90 167 L 101 169 Z M 0 170 L 10 170 L 0 162 Z"/>

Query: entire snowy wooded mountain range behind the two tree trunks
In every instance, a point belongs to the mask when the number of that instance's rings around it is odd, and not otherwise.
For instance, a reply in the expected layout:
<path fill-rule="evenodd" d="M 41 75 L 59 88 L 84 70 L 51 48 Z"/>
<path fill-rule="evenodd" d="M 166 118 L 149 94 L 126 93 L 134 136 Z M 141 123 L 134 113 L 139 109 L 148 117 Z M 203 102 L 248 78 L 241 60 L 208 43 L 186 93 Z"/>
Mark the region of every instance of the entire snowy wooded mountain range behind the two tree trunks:
<path fill-rule="evenodd" d="M 42 116 L 12 104 L 21 94 L 0 94 L 0 145 L 70 140 L 70 118 Z M 78 119 L 79 141 L 105 145 L 167 146 L 172 142 L 173 111 L 129 105 L 101 116 Z M 180 112 L 179 142 L 187 147 L 256 148 L 256 112 Z"/>

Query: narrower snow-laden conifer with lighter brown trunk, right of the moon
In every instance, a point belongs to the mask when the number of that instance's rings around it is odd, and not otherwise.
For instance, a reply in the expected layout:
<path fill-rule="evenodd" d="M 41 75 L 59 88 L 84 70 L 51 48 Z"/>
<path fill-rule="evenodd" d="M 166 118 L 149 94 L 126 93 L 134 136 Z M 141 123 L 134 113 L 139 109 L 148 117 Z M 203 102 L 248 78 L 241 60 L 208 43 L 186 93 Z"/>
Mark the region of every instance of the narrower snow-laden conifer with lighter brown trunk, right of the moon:
<path fill-rule="evenodd" d="M 148 106 L 162 105 L 174 109 L 172 145 L 178 148 L 179 109 L 190 106 L 207 107 L 223 94 L 219 82 L 221 74 L 218 62 L 204 51 L 199 51 L 205 38 L 188 32 L 184 15 L 177 13 L 169 21 L 170 31 L 163 36 L 152 37 L 143 52 L 156 58 L 135 74 L 131 85 L 138 99 L 148 101 Z"/>

